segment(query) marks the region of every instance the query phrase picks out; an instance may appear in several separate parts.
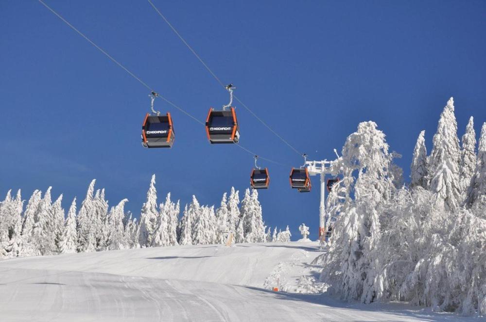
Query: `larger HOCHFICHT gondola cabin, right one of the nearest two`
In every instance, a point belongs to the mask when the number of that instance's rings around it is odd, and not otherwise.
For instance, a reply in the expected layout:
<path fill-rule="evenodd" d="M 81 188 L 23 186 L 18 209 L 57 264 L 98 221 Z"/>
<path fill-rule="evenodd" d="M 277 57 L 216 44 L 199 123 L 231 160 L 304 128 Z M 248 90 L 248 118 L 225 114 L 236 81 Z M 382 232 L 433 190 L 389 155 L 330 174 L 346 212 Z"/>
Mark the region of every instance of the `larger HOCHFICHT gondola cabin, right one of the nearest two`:
<path fill-rule="evenodd" d="M 235 108 L 227 111 L 209 109 L 206 118 L 206 134 L 211 144 L 237 143 L 240 140 L 240 126 L 236 119 Z"/>

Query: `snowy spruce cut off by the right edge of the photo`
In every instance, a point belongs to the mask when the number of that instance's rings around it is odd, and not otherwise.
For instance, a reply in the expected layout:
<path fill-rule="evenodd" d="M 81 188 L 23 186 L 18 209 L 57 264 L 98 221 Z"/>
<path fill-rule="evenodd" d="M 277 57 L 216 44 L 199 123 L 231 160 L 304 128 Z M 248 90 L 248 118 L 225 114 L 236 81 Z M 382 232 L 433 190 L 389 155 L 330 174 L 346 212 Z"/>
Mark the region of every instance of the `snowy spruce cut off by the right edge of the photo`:
<path fill-rule="evenodd" d="M 470 181 L 467 198 L 469 206 L 478 202 L 486 203 L 486 122 L 481 129 L 476 168 Z"/>

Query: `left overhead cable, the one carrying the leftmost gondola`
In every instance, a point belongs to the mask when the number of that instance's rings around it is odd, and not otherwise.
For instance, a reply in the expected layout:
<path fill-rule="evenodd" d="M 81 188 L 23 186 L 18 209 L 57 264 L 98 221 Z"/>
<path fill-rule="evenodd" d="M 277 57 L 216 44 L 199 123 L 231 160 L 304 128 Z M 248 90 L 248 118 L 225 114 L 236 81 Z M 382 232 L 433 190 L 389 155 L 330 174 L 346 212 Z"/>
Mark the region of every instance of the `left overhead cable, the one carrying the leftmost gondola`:
<path fill-rule="evenodd" d="M 59 19 L 61 19 L 64 23 L 66 23 L 72 30 L 74 30 L 75 32 L 77 32 L 79 35 L 81 35 L 83 38 L 85 38 L 91 45 L 93 45 L 95 48 L 97 48 L 98 50 L 100 50 L 106 57 L 108 57 L 112 62 L 114 62 L 115 64 L 117 64 L 118 66 L 120 66 L 125 72 L 127 72 L 130 76 L 132 76 L 134 79 L 136 79 L 137 81 L 139 81 L 140 84 L 142 84 L 143 86 L 145 86 L 147 89 L 149 89 L 152 93 L 156 93 L 152 87 L 150 87 L 149 85 L 147 85 L 146 82 L 142 81 L 139 77 L 137 77 L 133 72 L 131 72 L 128 68 L 126 68 L 125 66 L 123 66 L 120 62 L 118 62 L 115 58 L 113 58 L 113 56 L 111 56 L 110 54 L 108 54 L 106 51 L 103 50 L 103 48 L 101 48 L 100 46 L 96 45 L 91 39 L 89 39 L 83 32 L 80 32 L 78 29 L 76 29 L 76 27 L 74 27 L 73 25 L 71 25 L 69 23 L 69 21 L 67 21 L 64 17 L 62 17 L 61 15 L 59 15 L 56 11 L 54 11 L 50 6 L 48 6 L 44 1 L 42 0 L 38 0 L 42 5 L 44 5 L 47 9 L 49 9 L 49 11 L 52 12 L 52 14 L 54 14 L 55 16 L 57 16 Z M 203 63 L 204 64 L 204 63 Z M 169 99 L 161 96 L 160 94 L 156 93 L 157 95 L 154 96 L 154 97 L 160 97 L 161 99 L 163 99 L 164 101 L 166 101 L 167 103 L 169 103 L 170 105 L 172 105 L 174 108 L 176 108 L 177 110 L 179 110 L 180 112 L 186 114 L 187 116 L 191 117 L 194 121 L 196 121 L 197 123 L 201 124 L 201 125 L 205 125 L 204 122 L 202 122 L 201 120 L 199 120 L 198 118 L 196 118 L 195 116 L 191 115 L 190 113 L 186 112 L 184 109 L 180 108 L 179 106 L 177 106 L 176 104 L 174 104 L 172 101 L 170 101 Z M 243 147 L 242 145 L 239 145 L 237 144 L 240 148 L 242 148 L 244 151 L 252 154 L 252 155 L 255 155 L 255 153 L 253 153 L 252 151 L 248 150 L 247 148 Z M 277 162 L 277 161 L 273 161 L 273 160 L 270 160 L 270 159 L 266 159 L 266 158 L 263 158 L 263 157 L 260 157 L 260 159 L 262 160 L 266 160 L 266 161 L 269 161 L 269 162 L 273 162 L 275 164 L 279 164 L 279 165 L 283 165 L 283 166 L 286 166 L 285 164 L 283 163 L 280 163 L 280 162 Z"/>

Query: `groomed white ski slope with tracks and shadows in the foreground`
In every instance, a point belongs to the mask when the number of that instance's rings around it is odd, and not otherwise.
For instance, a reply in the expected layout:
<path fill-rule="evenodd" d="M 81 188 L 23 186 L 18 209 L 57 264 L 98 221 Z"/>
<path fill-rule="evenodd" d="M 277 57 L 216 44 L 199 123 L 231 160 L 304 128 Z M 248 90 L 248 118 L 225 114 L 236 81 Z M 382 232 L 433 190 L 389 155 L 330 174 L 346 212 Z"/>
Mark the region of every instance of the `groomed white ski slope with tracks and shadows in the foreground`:
<path fill-rule="evenodd" d="M 478 321 L 318 294 L 320 254 L 316 242 L 287 242 L 2 260 L 0 320 Z"/>

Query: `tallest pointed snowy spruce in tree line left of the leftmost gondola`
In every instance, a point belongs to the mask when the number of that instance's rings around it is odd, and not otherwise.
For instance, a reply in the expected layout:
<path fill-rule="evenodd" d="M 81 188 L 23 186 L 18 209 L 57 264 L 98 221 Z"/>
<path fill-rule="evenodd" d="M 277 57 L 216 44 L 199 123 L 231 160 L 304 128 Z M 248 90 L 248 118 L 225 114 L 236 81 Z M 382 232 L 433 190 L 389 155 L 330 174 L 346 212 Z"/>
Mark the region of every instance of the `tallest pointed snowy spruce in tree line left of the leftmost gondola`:
<path fill-rule="evenodd" d="M 77 220 L 77 247 L 79 252 L 93 252 L 96 249 L 96 229 L 93 227 L 94 217 L 94 185 L 96 179 L 93 179 L 88 186 L 86 198 L 81 204 Z"/>

